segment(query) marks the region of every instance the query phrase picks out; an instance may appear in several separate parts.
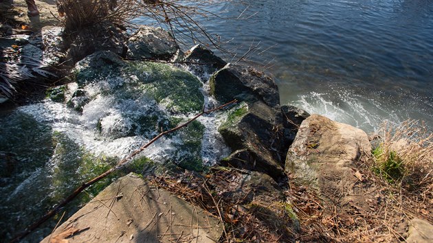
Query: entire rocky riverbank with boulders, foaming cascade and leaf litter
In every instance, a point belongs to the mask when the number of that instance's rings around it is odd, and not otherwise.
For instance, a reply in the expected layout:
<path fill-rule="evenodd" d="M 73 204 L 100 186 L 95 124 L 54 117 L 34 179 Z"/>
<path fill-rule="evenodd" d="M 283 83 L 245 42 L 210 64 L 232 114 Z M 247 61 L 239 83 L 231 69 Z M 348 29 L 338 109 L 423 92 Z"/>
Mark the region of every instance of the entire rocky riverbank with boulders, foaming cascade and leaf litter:
<path fill-rule="evenodd" d="M 278 86 L 262 71 L 227 63 L 201 45 L 183 52 L 162 29 L 126 34 L 103 26 L 74 38 L 45 26 L 37 45 L 28 41 L 34 36 L 20 45 L 16 36 L 2 39 L 15 41 L 17 55 L 39 60 L 36 73 L 43 70 L 39 78 L 50 86 L 41 100 L 1 120 L 27 121 L 14 127 L 43 139 L 27 138 L 25 146 L 46 147 L 19 150 L 25 135 L 1 128 L 6 211 L 14 198 L 39 200 L 14 185 L 42 190 L 43 204 L 56 203 L 159 132 L 237 102 L 168 135 L 87 191 L 85 206 L 67 208 L 66 221 L 44 242 L 432 240 L 432 202 L 401 210 L 417 204 L 398 202 L 370 173 L 372 148 L 362 130 L 281 105 Z M 36 160 L 40 167 L 29 168 Z M 36 211 L 32 219 L 41 216 Z M 1 224 L 6 238 L 25 227 Z"/>

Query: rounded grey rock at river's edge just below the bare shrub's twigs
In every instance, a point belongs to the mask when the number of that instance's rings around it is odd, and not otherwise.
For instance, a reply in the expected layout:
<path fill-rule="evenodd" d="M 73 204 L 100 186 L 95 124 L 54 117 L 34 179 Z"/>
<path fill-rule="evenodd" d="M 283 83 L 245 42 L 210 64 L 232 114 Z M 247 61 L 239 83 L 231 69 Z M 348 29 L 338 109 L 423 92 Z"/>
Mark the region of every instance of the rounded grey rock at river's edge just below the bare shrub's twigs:
<path fill-rule="evenodd" d="M 128 39 L 128 58 L 170 60 L 179 49 L 175 38 L 161 27 L 140 26 Z"/>

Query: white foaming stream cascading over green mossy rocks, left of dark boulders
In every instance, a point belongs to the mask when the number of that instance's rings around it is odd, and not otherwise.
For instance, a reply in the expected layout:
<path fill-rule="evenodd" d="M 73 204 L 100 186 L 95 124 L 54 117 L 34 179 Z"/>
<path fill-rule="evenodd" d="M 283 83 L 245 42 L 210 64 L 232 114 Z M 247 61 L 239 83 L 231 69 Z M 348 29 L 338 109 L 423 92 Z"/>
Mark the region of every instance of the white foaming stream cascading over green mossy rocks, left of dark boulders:
<path fill-rule="evenodd" d="M 89 72 L 86 66 L 80 73 L 97 73 L 98 76 L 101 71 L 101 77 L 91 78 L 87 84 L 77 81 L 80 89 L 76 82 L 58 88 L 65 90 L 65 101 L 74 100 L 73 94 L 87 93 L 90 99 L 80 111 L 70 107 L 68 102 L 48 98 L 1 111 L 0 242 L 25 229 L 80 183 L 113 167 L 162 129 L 186 122 L 199 113 L 203 105 L 214 106 L 207 84 L 186 67 L 144 62 L 122 65 L 125 66 L 122 70 L 132 70 L 132 73 L 107 74 L 99 67 L 89 68 Z M 177 89 L 186 84 L 190 90 Z M 196 90 L 191 91 L 193 89 Z M 197 109 L 188 110 L 190 103 L 172 106 L 177 105 L 172 100 L 176 95 L 191 100 L 186 93 L 176 93 L 179 90 L 198 97 Z M 154 92 L 167 95 L 156 101 Z M 173 163 L 200 170 L 203 165 L 212 165 L 227 157 L 230 149 L 217 132 L 225 118 L 225 113 L 219 111 L 205 114 L 186 128 L 158 139 L 137 156 L 139 159 L 93 185 L 68 205 L 64 220 L 77 211 L 79 205 L 126 173 L 169 170 Z M 39 227 L 24 242 L 41 240 L 50 233 L 59 217 Z"/>

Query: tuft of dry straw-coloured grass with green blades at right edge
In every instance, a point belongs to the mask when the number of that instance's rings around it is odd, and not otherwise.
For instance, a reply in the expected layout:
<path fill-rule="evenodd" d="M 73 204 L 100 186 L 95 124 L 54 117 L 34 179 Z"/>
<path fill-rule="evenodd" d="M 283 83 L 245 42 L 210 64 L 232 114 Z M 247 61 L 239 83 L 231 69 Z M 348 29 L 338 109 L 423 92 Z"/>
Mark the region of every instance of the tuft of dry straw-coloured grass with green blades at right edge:
<path fill-rule="evenodd" d="M 375 172 L 402 193 L 433 198 L 433 133 L 425 124 L 407 120 L 399 126 L 384 122 L 377 135 Z"/>

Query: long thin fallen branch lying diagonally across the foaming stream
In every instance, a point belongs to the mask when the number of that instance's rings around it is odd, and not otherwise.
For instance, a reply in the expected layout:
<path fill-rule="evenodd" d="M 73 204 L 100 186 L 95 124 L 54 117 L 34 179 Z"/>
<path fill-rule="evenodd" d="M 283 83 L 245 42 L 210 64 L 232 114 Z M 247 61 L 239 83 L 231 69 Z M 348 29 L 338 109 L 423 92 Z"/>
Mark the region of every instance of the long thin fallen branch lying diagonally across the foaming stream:
<path fill-rule="evenodd" d="M 209 111 L 205 111 L 203 108 L 203 111 L 201 111 L 201 113 L 195 115 L 195 117 L 192 117 L 190 120 L 188 120 L 188 122 L 181 124 L 181 125 L 179 125 L 175 128 L 172 128 L 170 130 L 166 130 L 164 132 L 159 133 L 159 135 L 154 137 L 151 141 L 148 141 L 148 143 L 144 144 L 142 147 L 138 148 L 137 150 L 135 150 L 134 152 L 132 152 L 128 156 L 124 157 L 124 159 L 119 161 L 119 163 L 117 165 L 115 165 L 115 167 L 112 167 L 111 169 L 100 174 L 99 176 L 96 176 L 95 178 L 91 179 L 90 181 L 87 181 L 86 183 L 82 183 L 82 185 L 80 187 L 78 187 L 77 189 L 75 189 L 75 191 L 72 192 L 72 194 L 70 194 L 67 198 L 65 198 L 65 200 L 63 200 L 58 205 L 56 205 L 56 207 L 54 207 L 53 209 L 51 209 L 50 211 L 45 213 L 44 216 L 42 216 L 36 222 L 31 224 L 29 227 L 27 227 L 23 232 L 19 233 L 19 235 L 16 235 L 16 237 L 13 238 L 10 242 L 19 242 L 19 240 L 23 239 L 26 235 L 28 235 L 29 233 L 34 231 L 34 229 L 36 229 L 41 224 L 43 224 L 43 222 L 47 221 L 49 218 L 51 218 L 52 216 L 56 215 L 56 213 L 61 211 L 63 209 L 63 207 L 65 207 L 65 205 L 67 205 L 71 200 L 76 198 L 76 196 L 78 196 L 78 194 L 80 194 L 80 192 L 84 191 L 87 187 L 93 185 L 94 183 L 97 183 L 102 178 L 107 177 L 109 174 L 113 173 L 115 170 L 120 169 L 120 167 L 122 167 L 123 165 L 126 165 L 126 163 L 131 161 L 133 159 L 133 157 L 135 157 L 137 154 L 140 154 L 140 152 L 142 152 L 143 150 L 148 148 L 148 146 L 151 146 L 151 144 L 154 143 L 155 141 L 157 141 L 160 137 L 167 135 L 170 132 L 174 132 L 175 130 L 179 130 L 180 128 L 184 128 L 184 127 L 188 126 L 188 124 L 190 124 L 191 122 L 194 122 L 197 118 L 201 117 L 202 115 L 212 113 L 213 111 L 218 111 L 221 108 L 224 108 L 225 106 L 228 106 L 230 104 L 234 104 L 235 102 L 237 102 L 237 100 L 232 100 L 231 102 L 228 102 L 228 103 L 223 104 L 221 106 L 218 106 L 216 108 L 212 108 Z"/>

